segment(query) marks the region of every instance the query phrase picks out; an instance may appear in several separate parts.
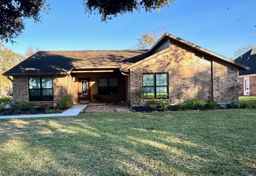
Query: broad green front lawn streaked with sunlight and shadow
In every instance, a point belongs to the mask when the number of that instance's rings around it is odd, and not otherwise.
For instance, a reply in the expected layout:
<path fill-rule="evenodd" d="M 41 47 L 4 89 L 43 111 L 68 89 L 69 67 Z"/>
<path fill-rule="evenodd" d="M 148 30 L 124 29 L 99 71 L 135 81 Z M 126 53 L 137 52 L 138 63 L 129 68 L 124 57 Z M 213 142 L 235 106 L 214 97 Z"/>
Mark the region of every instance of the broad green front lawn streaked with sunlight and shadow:
<path fill-rule="evenodd" d="M 0 175 L 255 175 L 256 109 L 0 120 Z"/>

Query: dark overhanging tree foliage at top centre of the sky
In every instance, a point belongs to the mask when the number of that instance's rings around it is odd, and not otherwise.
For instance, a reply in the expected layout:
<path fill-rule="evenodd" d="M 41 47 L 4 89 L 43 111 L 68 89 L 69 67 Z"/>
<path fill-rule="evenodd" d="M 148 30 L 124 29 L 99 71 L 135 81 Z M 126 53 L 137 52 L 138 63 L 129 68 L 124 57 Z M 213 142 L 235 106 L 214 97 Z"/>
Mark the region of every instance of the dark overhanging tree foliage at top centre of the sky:
<path fill-rule="evenodd" d="M 174 0 L 82 0 L 87 14 L 100 14 L 101 21 L 106 22 L 118 14 L 132 13 L 144 8 L 146 12 L 158 10 L 174 4 Z"/>

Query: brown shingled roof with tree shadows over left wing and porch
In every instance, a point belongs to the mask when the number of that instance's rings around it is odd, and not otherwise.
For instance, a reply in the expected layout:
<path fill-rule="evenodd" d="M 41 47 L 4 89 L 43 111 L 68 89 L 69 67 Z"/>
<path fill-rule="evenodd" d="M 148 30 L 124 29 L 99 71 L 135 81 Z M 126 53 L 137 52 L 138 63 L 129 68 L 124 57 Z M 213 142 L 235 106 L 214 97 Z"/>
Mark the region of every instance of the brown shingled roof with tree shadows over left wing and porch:
<path fill-rule="evenodd" d="M 91 51 L 38 51 L 4 73 L 66 74 L 73 67 L 121 66 L 122 68 L 141 61 L 150 54 L 148 50 L 91 50 Z"/>

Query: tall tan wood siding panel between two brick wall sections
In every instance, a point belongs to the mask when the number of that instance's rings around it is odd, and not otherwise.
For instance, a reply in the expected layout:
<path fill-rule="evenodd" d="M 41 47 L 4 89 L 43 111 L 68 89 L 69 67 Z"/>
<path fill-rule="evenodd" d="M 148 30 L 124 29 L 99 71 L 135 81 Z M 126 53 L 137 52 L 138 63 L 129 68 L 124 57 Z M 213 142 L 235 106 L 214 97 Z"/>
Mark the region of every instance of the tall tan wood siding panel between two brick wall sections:
<path fill-rule="evenodd" d="M 206 102 L 212 86 L 211 61 L 194 57 L 195 98 Z"/>

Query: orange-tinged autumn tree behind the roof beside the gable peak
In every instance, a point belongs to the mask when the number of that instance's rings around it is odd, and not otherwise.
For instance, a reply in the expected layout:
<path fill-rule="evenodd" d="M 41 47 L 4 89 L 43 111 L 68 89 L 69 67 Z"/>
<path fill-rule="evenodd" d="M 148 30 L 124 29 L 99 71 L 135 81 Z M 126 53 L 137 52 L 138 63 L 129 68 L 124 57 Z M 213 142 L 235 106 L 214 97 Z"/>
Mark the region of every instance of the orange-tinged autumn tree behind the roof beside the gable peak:
<path fill-rule="evenodd" d="M 154 30 L 152 33 L 144 33 L 140 35 L 137 39 L 137 45 L 134 49 L 150 49 L 157 41 L 164 35 L 166 30 L 162 28 L 158 28 Z"/>

